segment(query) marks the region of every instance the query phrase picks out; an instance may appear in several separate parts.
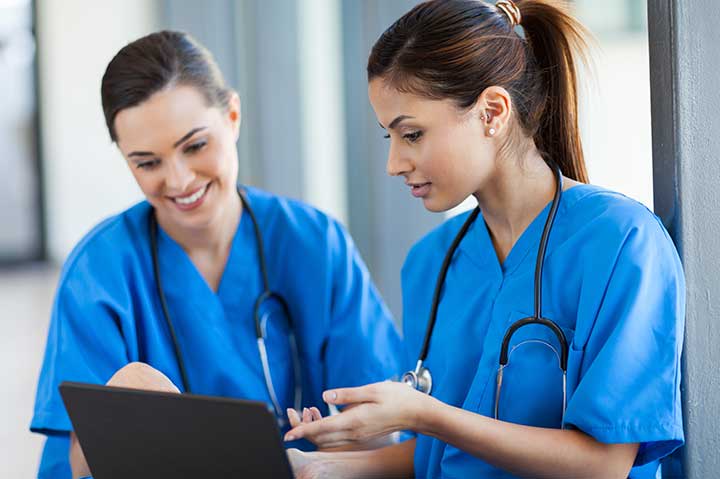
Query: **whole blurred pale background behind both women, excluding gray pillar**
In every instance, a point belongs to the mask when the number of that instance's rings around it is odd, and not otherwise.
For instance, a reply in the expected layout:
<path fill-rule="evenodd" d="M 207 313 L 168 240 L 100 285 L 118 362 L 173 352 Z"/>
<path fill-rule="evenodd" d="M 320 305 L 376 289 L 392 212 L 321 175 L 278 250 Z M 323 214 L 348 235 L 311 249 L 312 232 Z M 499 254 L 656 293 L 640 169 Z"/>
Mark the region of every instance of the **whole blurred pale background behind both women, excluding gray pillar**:
<path fill-rule="evenodd" d="M 0 0 L 0 476 L 37 467 L 42 438 L 27 428 L 59 265 L 94 224 L 142 199 L 99 89 L 117 50 L 146 33 L 182 29 L 214 53 L 242 98 L 241 181 L 338 217 L 400 320 L 404 257 L 446 215 L 385 174 L 365 62 L 415 3 Z M 645 1 L 573 5 L 596 39 L 582 75 L 591 181 L 652 208 Z"/>

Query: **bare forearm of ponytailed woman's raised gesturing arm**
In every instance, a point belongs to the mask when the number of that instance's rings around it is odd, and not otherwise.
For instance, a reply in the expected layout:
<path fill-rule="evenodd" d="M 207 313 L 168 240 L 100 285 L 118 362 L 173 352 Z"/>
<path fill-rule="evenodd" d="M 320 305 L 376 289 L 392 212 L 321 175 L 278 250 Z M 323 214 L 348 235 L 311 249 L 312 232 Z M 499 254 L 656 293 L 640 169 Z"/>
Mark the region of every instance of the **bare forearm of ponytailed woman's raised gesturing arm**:
<path fill-rule="evenodd" d="M 415 430 L 521 477 L 626 478 L 637 445 L 604 444 L 580 432 L 522 426 L 431 398 Z"/>

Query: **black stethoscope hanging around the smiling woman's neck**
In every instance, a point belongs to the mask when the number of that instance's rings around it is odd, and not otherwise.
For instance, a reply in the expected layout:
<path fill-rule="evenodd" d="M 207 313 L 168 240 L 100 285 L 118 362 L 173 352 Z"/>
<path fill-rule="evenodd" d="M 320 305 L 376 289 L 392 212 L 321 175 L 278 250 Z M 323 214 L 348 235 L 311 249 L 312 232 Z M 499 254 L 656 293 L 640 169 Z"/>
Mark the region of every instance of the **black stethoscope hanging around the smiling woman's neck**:
<path fill-rule="evenodd" d="M 273 292 L 270 289 L 270 281 L 268 280 L 267 266 L 265 262 L 265 248 L 263 246 L 262 235 L 260 234 L 260 227 L 258 226 L 257 218 L 255 213 L 250 207 L 245 193 L 238 187 L 238 195 L 242 202 L 243 210 L 250 215 L 252 220 L 253 230 L 255 232 L 255 242 L 258 250 L 258 261 L 260 263 L 260 271 L 262 273 L 263 280 L 263 292 L 260 293 L 258 298 L 255 300 L 255 306 L 253 310 L 253 318 L 255 320 L 255 336 L 257 339 L 257 348 L 260 354 L 260 362 L 262 363 L 263 376 L 265 377 L 265 386 L 267 388 L 270 400 L 272 401 L 273 409 L 275 410 L 275 416 L 277 418 L 280 427 L 286 425 L 287 419 L 285 414 L 280 407 L 280 401 L 278 401 L 275 387 L 273 385 L 272 376 L 270 375 L 270 363 L 268 361 L 267 348 L 265 347 L 265 336 L 267 333 L 267 322 L 270 318 L 270 312 L 272 308 L 264 308 L 266 303 L 276 302 L 280 305 L 282 312 L 288 319 L 288 340 L 290 343 L 290 350 L 292 354 L 293 373 L 295 376 L 295 396 L 294 396 L 294 407 L 295 410 L 299 410 L 302 405 L 302 376 L 300 371 L 300 355 L 297 349 L 297 342 L 295 340 L 295 333 L 293 331 L 293 322 L 290 316 L 290 308 L 287 305 L 285 299 L 278 293 Z M 168 330 L 170 331 L 170 338 L 172 339 L 173 348 L 175 350 L 175 356 L 177 357 L 178 366 L 180 369 L 180 378 L 183 383 L 185 392 L 192 392 L 190 389 L 190 381 L 188 380 L 187 370 L 185 369 L 185 361 L 183 361 L 182 352 L 180 350 L 180 343 L 175 334 L 175 328 L 173 327 L 172 321 L 170 320 L 170 312 L 167 306 L 167 300 L 165 299 L 165 292 L 163 291 L 162 280 L 160 277 L 160 264 L 158 261 L 158 246 L 157 246 L 157 219 L 155 218 L 154 211 L 150 213 L 150 249 L 152 251 L 153 261 L 153 273 L 155 275 L 155 284 L 157 286 L 157 294 L 160 298 L 160 305 L 162 306 L 163 316 L 167 323 Z"/>

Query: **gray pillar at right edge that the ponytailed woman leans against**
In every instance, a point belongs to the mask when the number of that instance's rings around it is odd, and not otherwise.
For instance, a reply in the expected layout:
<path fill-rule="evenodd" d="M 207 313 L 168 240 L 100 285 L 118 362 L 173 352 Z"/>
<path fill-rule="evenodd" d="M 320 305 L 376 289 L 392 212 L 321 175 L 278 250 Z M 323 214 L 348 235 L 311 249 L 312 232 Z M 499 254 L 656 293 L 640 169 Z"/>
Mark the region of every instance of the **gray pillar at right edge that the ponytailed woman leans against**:
<path fill-rule="evenodd" d="M 686 447 L 663 477 L 720 476 L 720 8 L 650 0 L 655 209 L 687 279 Z"/>

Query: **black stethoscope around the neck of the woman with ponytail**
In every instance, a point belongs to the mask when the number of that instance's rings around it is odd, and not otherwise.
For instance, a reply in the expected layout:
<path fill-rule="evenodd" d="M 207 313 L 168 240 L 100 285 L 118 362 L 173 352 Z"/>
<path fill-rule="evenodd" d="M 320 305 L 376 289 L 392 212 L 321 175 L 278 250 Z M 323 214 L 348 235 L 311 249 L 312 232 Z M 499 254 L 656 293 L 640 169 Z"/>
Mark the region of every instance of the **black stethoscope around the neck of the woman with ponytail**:
<path fill-rule="evenodd" d="M 554 170 L 556 180 L 555 196 L 553 198 L 552 204 L 550 205 L 550 212 L 548 213 L 547 220 L 545 221 L 545 228 L 543 229 L 542 237 L 540 239 L 540 246 L 538 247 L 537 261 L 535 264 L 535 314 L 531 317 L 515 321 L 505 332 L 502 347 L 500 348 L 500 364 L 498 366 L 496 378 L 494 411 L 495 419 L 498 419 L 499 417 L 500 392 L 502 389 L 503 370 L 507 366 L 509 357 L 513 353 L 513 351 L 515 351 L 523 344 L 527 343 L 539 343 L 547 346 L 557 356 L 558 363 L 560 365 L 560 369 L 562 370 L 563 375 L 563 420 L 565 416 L 565 407 L 567 403 L 568 343 L 567 339 L 565 339 L 565 333 L 563 333 L 563 330 L 554 321 L 542 317 L 542 272 L 543 265 L 545 263 L 545 251 L 547 249 L 548 237 L 550 236 L 550 231 L 552 230 L 552 225 L 555 221 L 555 216 L 557 215 L 558 206 L 560 205 L 563 186 L 562 172 L 560 171 L 560 168 L 558 168 L 557 165 L 554 165 L 552 169 Z M 432 307 L 430 308 L 430 319 L 428 321 L 427 330 L 425 332 L 425 339 L 423 341 L 422 349 L 420 350 L 420 356 L 418 357 L 415 369 L 413 371 L 406 372 L 405 374 L 403 374 L 402 377 L 402 382 L 412 386 L 413 388 L 425 394 L 430 394 L 430 392 L 432 391 L 433 383 L 432 374 L 430 374 L 430 370 L 428 368 L 423 366 L 423 363 L 425 362 L 425 359 L 428 355 L 430 339 L 432 338 L 433 329 L 435 327 L 435 320 L 437 319 L 437 310 L 440 304 L 440 294 L 442 292 L 442 287 L 445 283 L 445 277 L 447 275 L 448 268 L 450 267 L 452 257 L 455 254 L 455 250 L 460 244 L 460 241 L 462 241 L 462 239 L 465 237 L 468 229 L 470 229 L 470 225 L 472 225 L 472 223 L 478 217 L 479 213 L 480 207 L 475 208 L 475 210 L 470 213 L 467 220 L 465 220 L 465 223 L 462 225 L 462 228 L 460 228 L 457 236 L 455 236 L 455 239 L 450 245 L 447 254 L 445 255 L 442 267 L 440 268 L 440 274 L 438 275 L 437 283 L 435 284 L 435 293 L 433 294 Z M 558 343 L 560 343 L 560 353 L 558 353 L 551 344 L 539 339 L 525 340 L 520 344 L 517 344 L 515 347 L 512 348 L 512 350 L 508 352 L 510 340 L 512 339 L 515 332 L 517 332 L 517 330 L 519 330 L 523 326 L 527 326 L 530 324 L 545 326 L 549 328 L 557 337 Z"/>

